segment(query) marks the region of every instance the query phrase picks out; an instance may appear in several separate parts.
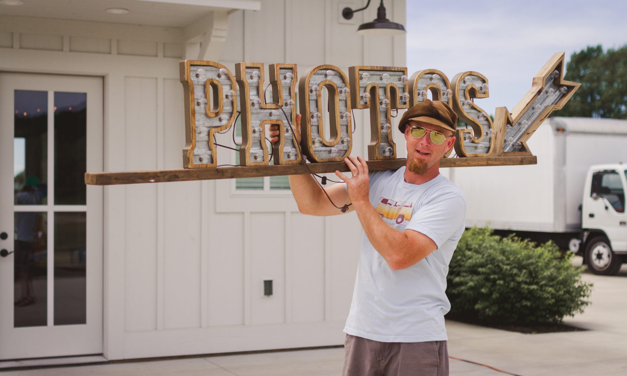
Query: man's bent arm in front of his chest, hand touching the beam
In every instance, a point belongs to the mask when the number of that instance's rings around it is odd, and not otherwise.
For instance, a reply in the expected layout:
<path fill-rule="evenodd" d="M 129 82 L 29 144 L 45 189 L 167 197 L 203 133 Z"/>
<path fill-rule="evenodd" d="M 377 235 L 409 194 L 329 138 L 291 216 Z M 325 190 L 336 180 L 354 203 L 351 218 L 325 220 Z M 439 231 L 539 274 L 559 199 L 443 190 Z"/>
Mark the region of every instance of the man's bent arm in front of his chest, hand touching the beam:
<path fill-rule="evenodd" d="M 346 164 L 353 177 L 349 179 L 339 171 L 335 174 L 346 182 L 350 202 L 357 211 L 368 240 L 390 269 L 409 268 L 438 248 L 431 238 L 421 232 L 410 229 L 401 232 L 387 226 L 368 198 L 370 184 L 366 161 L 361 157 L 349 157 Z"/>

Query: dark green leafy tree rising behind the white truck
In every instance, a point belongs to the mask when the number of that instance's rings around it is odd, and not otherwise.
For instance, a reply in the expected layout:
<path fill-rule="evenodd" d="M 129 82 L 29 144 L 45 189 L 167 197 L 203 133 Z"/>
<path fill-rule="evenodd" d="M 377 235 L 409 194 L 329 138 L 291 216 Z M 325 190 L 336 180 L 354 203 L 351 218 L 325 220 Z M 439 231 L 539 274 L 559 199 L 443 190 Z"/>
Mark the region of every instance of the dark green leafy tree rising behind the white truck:
<path fill-rule="evenodd" d="M 627 119 L 627 45 L 603 52 L 599 44 L 573 53 L 564 79 L 581 86 L 554 115 Z"/>

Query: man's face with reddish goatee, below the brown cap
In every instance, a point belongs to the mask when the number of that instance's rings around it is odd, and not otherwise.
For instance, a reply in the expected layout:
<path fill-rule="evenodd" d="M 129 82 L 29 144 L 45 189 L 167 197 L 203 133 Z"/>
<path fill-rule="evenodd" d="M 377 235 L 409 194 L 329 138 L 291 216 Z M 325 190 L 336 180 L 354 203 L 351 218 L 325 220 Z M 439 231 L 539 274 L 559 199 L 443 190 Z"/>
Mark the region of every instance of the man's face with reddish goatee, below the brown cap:
<path fill-rule="evenodd" d="M 425 128 L 427 133 L 421 138 L 414 138 L 411 135 L 411 127 L 414 126 Z M 432 130 L 440 132 L 448 138 L 441 145 L 433 144 L 428 133 Z M 455 137 L 451 130 L 438 127 L 438 125 L 411 120 L 405 127 L 405 140 L 407 142 L 409 170 L 414 174 L 424 175 L 429 169 L 440 165 L 440 158 L 451 149 L 455 142 Z"/>

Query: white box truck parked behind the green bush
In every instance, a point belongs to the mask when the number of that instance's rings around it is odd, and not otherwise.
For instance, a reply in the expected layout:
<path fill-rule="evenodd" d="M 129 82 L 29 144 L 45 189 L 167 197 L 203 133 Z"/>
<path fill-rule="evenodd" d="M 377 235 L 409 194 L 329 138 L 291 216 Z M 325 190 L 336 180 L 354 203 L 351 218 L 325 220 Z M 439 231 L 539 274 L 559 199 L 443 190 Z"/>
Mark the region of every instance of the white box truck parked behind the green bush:
<path fill-rule="evenodd" d="M 627 261 L 627 120 L 553 117 L 527 144 L 537 165 L 450 169 L 466 194 L 466 227 L 551 239 L 594 273 L 618 273 Z"/>

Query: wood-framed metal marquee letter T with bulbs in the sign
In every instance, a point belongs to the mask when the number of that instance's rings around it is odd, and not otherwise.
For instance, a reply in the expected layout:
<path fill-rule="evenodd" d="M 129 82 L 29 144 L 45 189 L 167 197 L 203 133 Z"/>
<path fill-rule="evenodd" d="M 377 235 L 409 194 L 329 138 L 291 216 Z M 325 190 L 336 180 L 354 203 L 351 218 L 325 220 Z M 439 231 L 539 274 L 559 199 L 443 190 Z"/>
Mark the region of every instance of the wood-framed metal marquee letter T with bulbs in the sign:
<path fill-rule="evenodd" d="M 358 65 L 349 76 L 352 107 L 370 108 L 368 159 L 396 159 L 391 110 L 409 108 L 407 68 Z"/>

